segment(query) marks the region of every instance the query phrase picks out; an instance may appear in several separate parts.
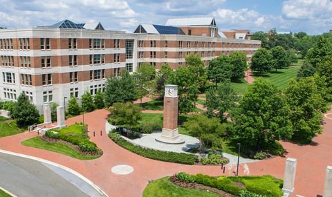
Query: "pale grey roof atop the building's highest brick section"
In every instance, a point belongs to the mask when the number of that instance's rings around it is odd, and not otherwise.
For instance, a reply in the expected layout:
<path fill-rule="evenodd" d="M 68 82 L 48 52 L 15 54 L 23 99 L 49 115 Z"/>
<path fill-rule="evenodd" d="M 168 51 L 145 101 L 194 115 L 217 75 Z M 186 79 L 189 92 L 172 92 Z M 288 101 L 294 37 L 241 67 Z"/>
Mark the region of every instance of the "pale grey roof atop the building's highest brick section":
<path fill-rule="evenodd" d="M 216 26 L 214 17 L 168 19 L 166 26 Z"/>

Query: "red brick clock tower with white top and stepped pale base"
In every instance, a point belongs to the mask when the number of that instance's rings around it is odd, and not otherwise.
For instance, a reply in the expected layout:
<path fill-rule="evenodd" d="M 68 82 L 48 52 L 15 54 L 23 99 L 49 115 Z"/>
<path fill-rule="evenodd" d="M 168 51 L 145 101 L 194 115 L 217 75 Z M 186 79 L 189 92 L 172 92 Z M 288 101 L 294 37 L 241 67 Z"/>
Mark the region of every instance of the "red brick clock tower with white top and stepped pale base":
<path fill-rule="evenodd" d="M 182 144 L 185 141 L 178 135 L 178 86 L 166 85 L 164 96 L 164 123 L 159 142 Z"/>

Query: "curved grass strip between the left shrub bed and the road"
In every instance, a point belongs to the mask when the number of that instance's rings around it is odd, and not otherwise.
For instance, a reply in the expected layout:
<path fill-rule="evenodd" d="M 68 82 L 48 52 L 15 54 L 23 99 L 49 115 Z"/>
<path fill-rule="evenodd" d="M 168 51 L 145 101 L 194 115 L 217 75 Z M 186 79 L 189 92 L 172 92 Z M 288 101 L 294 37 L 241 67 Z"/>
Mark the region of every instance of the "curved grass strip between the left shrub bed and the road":
<path fill-rule="evenodd" d="M 83 154 L 79 153 L 78 151 L 76 151 L 75 149 L 73 149 L 72 147 L 69 147 L 66 144 L 45 142 L 39 136 L 37 136 L 35 138 L 28 139 L 28 140 L 24 140 L 21 144 L 23 144 L 24 146 L 27 146 L 27 147 L 35 147 L 35 148 L 38 148 L 38 149 L 45 149 L 45 150 L 48 150 L 48 151 L 61 153 L 63 155 L 70 156 L 72 158 L 76 158 L 76 159 L 79 159 L 79 160 L 93 160 L 95 158 L 100 157 L 100 156 L 86 156 L 86 155 L 83 155 Z"/>

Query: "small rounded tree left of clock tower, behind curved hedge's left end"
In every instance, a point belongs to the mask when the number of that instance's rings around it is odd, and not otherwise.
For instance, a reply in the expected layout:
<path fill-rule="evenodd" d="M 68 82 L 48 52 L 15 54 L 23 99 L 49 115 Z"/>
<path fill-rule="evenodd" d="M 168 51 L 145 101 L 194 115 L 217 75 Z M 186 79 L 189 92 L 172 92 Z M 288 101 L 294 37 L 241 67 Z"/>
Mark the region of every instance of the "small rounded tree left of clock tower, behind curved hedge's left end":
<path fill-rule="evenodd" d="M 111 124 L 125 126 L 129 131 L 134 126 L 138 126 L 138 121 L 142 118 L 142 108 L 131 102 L 116 102 L 109 111 L 111 111 L 111 116 L 109 117 Z"/>

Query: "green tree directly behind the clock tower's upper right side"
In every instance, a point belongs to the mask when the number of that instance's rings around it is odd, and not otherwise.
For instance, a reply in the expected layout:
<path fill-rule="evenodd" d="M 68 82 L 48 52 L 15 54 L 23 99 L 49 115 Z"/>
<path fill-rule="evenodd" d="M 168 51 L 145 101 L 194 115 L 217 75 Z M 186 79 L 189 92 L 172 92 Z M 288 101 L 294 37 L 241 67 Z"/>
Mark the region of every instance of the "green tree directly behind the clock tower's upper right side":
<path fill-rule="evenodd" d="M 189 68 L 181 66 L 167 79 L 167 84 L 178 85 L 178 111 L 190 112 L 195 109 L 199 95 L 197 76 Z"/>

